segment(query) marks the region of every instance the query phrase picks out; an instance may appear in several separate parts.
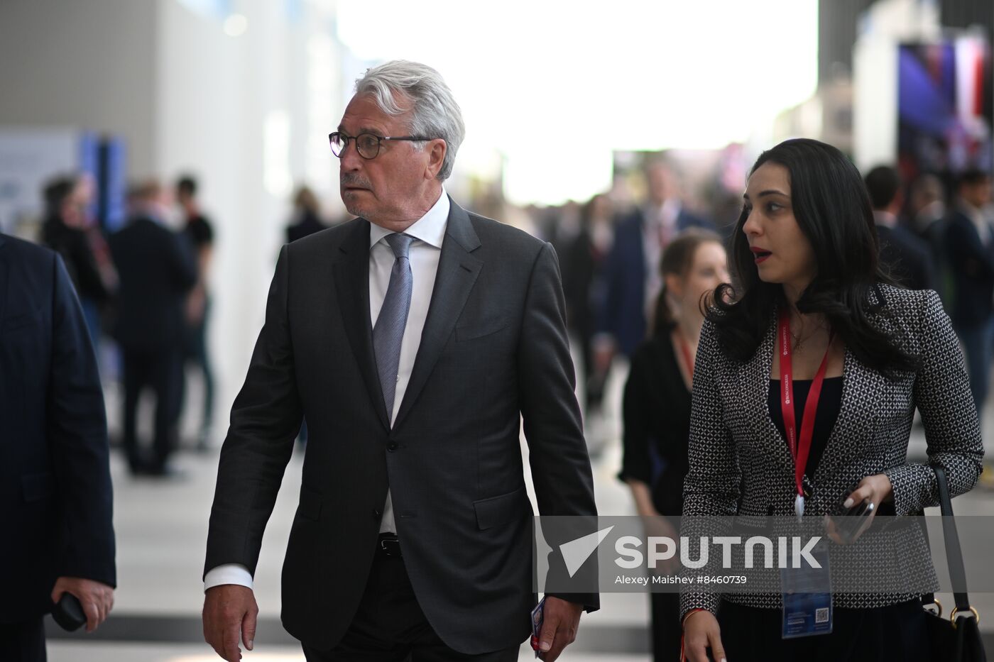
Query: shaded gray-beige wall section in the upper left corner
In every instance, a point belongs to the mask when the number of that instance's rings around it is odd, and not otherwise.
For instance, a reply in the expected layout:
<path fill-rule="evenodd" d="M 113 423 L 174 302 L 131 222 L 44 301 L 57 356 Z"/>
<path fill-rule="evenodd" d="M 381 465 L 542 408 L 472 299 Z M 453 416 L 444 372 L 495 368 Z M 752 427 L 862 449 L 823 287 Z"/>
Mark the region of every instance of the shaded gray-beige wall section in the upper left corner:
<path fill-rule="evenodd" d="M 0 125 L 112 132 L 150 174 L 157 39 L 147 1 L 0 2 Z"/>

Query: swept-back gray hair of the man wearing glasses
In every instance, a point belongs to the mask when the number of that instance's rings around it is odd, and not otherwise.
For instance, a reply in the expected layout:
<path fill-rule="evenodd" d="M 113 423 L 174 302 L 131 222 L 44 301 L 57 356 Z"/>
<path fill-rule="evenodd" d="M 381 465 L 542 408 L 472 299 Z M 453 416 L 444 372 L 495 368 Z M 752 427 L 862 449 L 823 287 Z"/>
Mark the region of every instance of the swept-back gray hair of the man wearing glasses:
<path fill-rule="evenodd" d="M 452 90 L 438 72 L 426 65 L 394 60 L 367 70 L 356 81 L 356 93 L 372 94 L 380 109 L 388 115 L 411 110 L 410 130 L 414 135 L 445 141 L 445 160 L 438 171 L 438 179 L 444 181 L 452 174 L 455 153 L 466 136 L 466 127 Z M 405 99 L 411 99 L 410 106 L 398 103 Z M 424 143 L 418 145 L 423 147 Z"/>

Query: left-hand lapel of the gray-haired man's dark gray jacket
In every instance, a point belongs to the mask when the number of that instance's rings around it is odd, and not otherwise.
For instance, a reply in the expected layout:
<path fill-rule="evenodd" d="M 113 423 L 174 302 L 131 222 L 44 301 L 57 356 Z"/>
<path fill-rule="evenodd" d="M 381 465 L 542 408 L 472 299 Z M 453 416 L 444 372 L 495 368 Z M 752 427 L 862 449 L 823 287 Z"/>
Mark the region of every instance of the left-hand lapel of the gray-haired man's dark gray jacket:
<path fill-rule="evenodd" d="M 335 262 L 335 289 L 342 324 L 359 364 L 363 382 L 384 427 L 390 428 L 383 388 L 373 355 L 373 324 L 370 321 L 370 224 L 359 220 L 353 232 L 338 248 Z"/>

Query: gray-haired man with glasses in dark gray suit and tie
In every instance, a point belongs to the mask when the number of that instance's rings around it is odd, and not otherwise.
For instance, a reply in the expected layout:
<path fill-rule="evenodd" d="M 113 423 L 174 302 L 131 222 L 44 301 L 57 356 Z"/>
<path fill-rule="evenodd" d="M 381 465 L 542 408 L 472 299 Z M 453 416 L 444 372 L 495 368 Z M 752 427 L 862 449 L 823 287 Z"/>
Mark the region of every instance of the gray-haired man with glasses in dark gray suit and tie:
<path fill-rule="evenodd" d="M 338 130 L 360 217 L 284 246 L 218 470 L 204 631 L 251 650 L 251 578 L 293 438 L 303 485 L 282 621 L 307 659 L 518 659 L 530 633 L 532 505 L 595 515 L 553 249 L 461 209 L 442 183 L 464 135 L 434 70 L 356 83 Z M 554 660 L 596 593 L 549 595 Z"/>

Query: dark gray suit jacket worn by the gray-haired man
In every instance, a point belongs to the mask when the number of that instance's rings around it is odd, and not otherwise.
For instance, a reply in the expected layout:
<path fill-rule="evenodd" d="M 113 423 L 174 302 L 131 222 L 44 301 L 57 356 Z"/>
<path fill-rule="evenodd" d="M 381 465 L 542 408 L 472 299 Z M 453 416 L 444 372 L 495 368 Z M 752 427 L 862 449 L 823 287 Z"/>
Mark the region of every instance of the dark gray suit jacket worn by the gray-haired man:
<path fill-rule="evenodd" d="M 414 371 L 393 428 L 373 356 L 370 224 L 283 247 L 211 514 L 206 569 L 254 573 L 301 416 L 300 505 L 283 565 L 286 629 L 333 647 L 362 597 L 388 486 L 418 603 L 452 648 L 530 632 L 532 505 L 593 515 L 553 249 L 454 202 Z M 581 596 L 589 608 L 596 595 Z"/>

